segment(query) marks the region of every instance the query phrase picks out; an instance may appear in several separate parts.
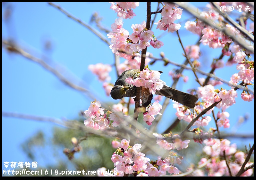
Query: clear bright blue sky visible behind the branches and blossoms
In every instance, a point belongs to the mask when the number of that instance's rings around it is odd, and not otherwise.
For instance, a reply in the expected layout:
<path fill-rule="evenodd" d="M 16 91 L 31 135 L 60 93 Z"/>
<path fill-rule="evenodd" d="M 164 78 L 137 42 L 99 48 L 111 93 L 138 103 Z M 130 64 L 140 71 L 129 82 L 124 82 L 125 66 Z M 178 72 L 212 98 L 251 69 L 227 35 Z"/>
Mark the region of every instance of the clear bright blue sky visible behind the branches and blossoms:
<path fill-rule="evenodd" d="M 110 3 L 58 3 L 74 16 L 80 18 L 86 23 L 90 22 L 92 13 L 98 12 L 103 17 L 102 25 L 106 28 L 111 27 L 117 18 L 116 13 L 109 9 Z M 206 3 L 194 4 L 197 7 L 204 7 Z M 51 59 L 52 65 L 67 72 L 68 78 L 73 82 L 79 82 L 79 79 L 86 83 L 86 88 L 93 92 L 97 100 L 102 102 L 114 102 L 111 97 L 105 95 L 102 89 L 102 82 L 98 81 L 95 75 L 88 70 L 88 65 L 104 63 L 113 65 L 114 59 L 111 49 L 108 45 L 95 36 L 91 31 L 84 28 L 79 23 L 68 18 L 56 8 L 47 3 L 10 3 L 12 5 L 12 15 L 7 23 L 2 19 L 2 39 L 12 37 L 15 42 L 22 47 L 28 48 L 36 57 L 41 58 L 42 54 Z M 152 11 L 156 10 L 156 3 L 152 3 Z M 146 20 L 146 3 L 141 3 L 134 9 L 136 16 L 133 19 L 124 20 L 124 28 L 132 32 L 132 24 L 140 24 Z M 3 15 L 2 5 L 2 15 Z M 159 15 L 156 19 L 161 18 Z M 183 12 L 179 30 L 184 46 L 193 45 L 197 42 L 198 36 L 185 30 L 185 22 L 190 16 Z M 194 20 L 194 19 L 192 19 Z M 95 27 L 95 24 L 92 24 Z M 163 48 L 148 48 L 155 57 L 159 57 L 161 51 L 171 61 L 183 63 L 185 58 L 182 56 L 182 48 L 178 43 L 176 33 L 166 34 L 163 31 L 156 30 L 153 27 L 156 37 L 161 35 L 159 40 L 164 42 Z M 105 37 L 106 33 L 103 34 Z M 52 50 L 44 50 L 44 42 L 50 40 Z M 201 70 L 209 72 L 210 63 L 213 58 L 219 57 L 219 49 L 209 49 L 209 47 L 200 45 L 202 56 Z M 254 56 L 253 58 L 254 59 Z M 121 59 L 121 62 L 124 60 Z M 162 62 L 156 62 L 151 69 L 161 70 L 164 73 L 161 79 L 172 84 L 172 79 L 168 72 L 175 66 L 163 66 Z M 237 73 L 235 66 L 216 70 L 216 75 L 227 81 L 233 73 Z M 72 75 L 72 76 L 70 76 Z M 184 71 L 184 75 L 189 76 L 189 81 L 184 84 L 179 81 L 176 89 L 186 91 L 190 88 L 197 88 L 198 84 L 194 81 L 193 73 Z M 115 72 L 110 73 L 111 82 L 116 80 Z M 198 75 L 199 77 L 204 77 Z M 74 78 L 73 78 L 74 77 Z M 74 80 L 75 79 L 75 80 Z M 227 88 L 225 84 L 217 88 Z M 252 88 L 251 88 L 252 89 Z M 244 102 L 240 98 L 242 90 L 237 91 L 238 97 L 236 104 L 227 109 L 230 114 L 231 131 L 237 123 L 239 116 L 249 113 L 249 119 L 238 129 L 237 133 L 254 134 L 254 101 Z M 35 62 L 28 60 L 20 55 L 9 54 L 2 49 L 2 111 L 17 112 L 30 115 L 54 117 L 60 119 L 74 119 L 78 117 L 79 111 L 87 110 L 90 97 L 81 92 L 73 90 L 63 84 L 52 73 L 42 68 Z M 217 111 L 217 110 L 216 110 Z M 168 106 L 168 112 L 164 114 L 164 121 L 158 126 L 159 133 L 164 127 L 170 125 L 175 118 L 175 109 L 172 104 Z M 214 124 L 210 124 L 215 127 Z M 24 120 L 17 118 L 2 117 L 2 163 L 5 161 L 28 161 L 28 157 L 22 152 L 20 144 L 33 136 L 38 130 L 50 133 L 52 123 L 36 122 L 33 120 Z M 221 128 L 223 130 L 223 128 Z M 254 143 L 254 139 L 244 141 L 238 139 L 237 144 Z M 40 162 L 38 162 L 40 163 Z M 3 168 L 3 165 L 2 165 Z"/>

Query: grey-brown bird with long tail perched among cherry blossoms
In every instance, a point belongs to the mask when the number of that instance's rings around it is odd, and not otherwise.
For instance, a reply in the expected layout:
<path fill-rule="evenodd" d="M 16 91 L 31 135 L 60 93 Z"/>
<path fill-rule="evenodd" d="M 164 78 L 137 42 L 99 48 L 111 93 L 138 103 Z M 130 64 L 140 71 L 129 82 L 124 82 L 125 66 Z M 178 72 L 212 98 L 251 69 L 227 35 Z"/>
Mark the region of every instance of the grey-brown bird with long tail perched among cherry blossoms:
<path fill-rule="evenodd" d="M 138 73 L 139 71 L 140 71 L 139 69 L 129 69 L 124 71 L 116 80 L 115 85 L 110 92 L 111 97 L 113 99 L 122 99 L 123 97 L 136 96 L 137 87 L 128 84 L 127 82 L 125 82 L 125 79 L 130 77 L 134 80 L 139 76 L 139 73 Z M 159 72 L 162 73 L 161 71 Z M 195 107 L 195 103 L 198 100 L 198 96 L 170 88 L 169 86 L 166 85 L 164 81 L 162 82 L 164 84 L 164 87 L 159 91 L 156 90 L 155 94 L 165 96 L 169 99 L 177 101 L 178 103 L 183 104 L 188 108 Z M 142 90 L 141 90 L 142 106 L 146 108 L 151 103 L 152 99 L 153 99 L 153 94 L 150 93 L 149 89 L 142 87 Z"/>

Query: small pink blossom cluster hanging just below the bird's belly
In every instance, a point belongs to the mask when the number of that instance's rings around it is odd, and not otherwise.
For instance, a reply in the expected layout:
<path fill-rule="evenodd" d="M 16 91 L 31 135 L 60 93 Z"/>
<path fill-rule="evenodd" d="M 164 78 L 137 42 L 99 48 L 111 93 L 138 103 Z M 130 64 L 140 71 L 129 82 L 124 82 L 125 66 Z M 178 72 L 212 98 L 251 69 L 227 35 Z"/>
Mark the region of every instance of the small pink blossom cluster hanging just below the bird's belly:
<path fill-rule="evenodd" d="M 159 111 L 162 109 L 162 105 L 155 101 L 152 105 L 147 108 L 147 111 L 143 113 L 143 121 L 147 123 L 147 125 L 152 125 L 152 122 L 155 119 L 155 115 L 159 114 Z"/>

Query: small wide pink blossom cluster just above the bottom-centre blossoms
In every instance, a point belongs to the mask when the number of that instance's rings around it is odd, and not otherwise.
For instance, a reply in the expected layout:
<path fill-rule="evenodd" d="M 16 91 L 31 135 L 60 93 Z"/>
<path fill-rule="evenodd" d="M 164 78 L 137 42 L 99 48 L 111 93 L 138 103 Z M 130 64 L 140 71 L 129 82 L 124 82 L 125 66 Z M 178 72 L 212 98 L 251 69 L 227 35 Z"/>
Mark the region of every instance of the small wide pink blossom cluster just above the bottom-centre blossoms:
<path fill-rule="evenodd" d="M 180 139 L 180 136 L 178 134 L 172 135 L 171 133 L 163 136 L 162 134 L 153 133 L 153 135 L 156 137 L 156 144 L 158 144 L 161 148 L 165 150 L 172 150 L 172 149 L 186 149 L 188 147 L 188 143 L 190 140 L 184 140 L 182 141 Z M 173 143 L 169 143 L 166 141 L 166 138 L 171 138 Z"/>

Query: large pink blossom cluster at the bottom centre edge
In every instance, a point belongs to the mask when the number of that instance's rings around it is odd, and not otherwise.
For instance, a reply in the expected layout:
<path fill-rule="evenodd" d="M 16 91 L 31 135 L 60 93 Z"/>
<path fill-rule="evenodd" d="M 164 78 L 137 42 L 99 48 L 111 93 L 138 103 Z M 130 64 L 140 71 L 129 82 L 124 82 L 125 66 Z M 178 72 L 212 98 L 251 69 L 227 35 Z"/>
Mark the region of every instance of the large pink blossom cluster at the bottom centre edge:
<path fill-rule="evenodd" d="M 111 160 L 114 163 L 115 176 L 124 176 L 124 174 L 134 174 L 136 176 L 162 176 L 166 173 L 179 174 L 179 170 L 174 164 L 181 164 L 183 157 L 177 153 L 172 153 L 164 160 L 159 156 L 156 161 L 150 161 L 145 154 L 139 152 L 141 144 L 129 145 L 129 141 L 123 139 L 120 142 L 112 141 L 112 146 L 118 148 L 112 155 Z"/>

